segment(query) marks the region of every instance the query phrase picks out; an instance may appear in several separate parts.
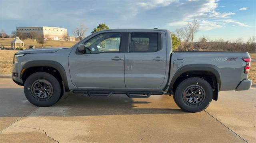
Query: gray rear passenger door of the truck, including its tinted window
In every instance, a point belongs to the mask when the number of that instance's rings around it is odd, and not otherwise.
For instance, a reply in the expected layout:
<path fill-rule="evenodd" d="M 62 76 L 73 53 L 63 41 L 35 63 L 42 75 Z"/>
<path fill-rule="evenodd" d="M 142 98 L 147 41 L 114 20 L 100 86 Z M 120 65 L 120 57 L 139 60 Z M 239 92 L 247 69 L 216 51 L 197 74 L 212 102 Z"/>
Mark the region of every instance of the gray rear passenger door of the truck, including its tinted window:
<path fill-rule="evenodd" d="M 126 88 L 159 88 L 166 74 L 166 47 L 161 32 L 128 30 L 129 48 L 125 54 Z"/>

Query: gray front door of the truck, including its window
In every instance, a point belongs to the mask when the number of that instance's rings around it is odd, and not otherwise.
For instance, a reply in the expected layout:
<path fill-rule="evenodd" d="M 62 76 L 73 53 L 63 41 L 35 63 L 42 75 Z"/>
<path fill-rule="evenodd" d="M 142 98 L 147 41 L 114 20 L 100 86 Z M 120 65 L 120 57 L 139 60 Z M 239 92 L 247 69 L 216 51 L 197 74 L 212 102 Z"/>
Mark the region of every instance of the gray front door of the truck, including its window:
<path fill-rule="evenodd" d="M 84 54 L 68 57 L 72 83 L 78 88 L 124 88 L 121 33 L 101 33 L 84 42 Z"/>

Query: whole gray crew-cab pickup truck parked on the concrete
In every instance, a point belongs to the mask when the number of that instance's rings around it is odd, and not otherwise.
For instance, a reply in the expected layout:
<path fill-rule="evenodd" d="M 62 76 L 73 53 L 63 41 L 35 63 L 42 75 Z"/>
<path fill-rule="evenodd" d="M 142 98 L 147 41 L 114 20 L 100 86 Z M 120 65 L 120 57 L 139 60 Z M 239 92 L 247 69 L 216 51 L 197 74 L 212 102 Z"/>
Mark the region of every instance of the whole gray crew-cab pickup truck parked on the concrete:
<path fill-rule="evenodd" d="M 247 52 L 172 52 L 165 29 L 107 29 L 71 48 L 42 48 L 14 55 L 12 78 L 28 101 L 52 106 L 72 91 L 90 97 L 173 95 L 186 112 L 200 112 L 218 92 L 248 90 Z"/>

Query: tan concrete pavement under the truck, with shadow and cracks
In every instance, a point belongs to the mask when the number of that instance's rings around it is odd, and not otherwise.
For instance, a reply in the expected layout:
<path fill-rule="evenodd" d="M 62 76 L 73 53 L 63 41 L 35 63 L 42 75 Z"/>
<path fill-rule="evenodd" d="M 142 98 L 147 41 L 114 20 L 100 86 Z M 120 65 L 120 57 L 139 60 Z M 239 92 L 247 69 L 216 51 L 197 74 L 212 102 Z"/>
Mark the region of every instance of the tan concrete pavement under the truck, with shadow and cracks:
<path fill-rule="evenodd" d="M 35 107 L 22 86 L 0 78 L 0 142 L 256 142 L 256 88 L 220 92 L 199 113 L 182 112 L 171 96 L 89 98 L 68 93 Z"/>

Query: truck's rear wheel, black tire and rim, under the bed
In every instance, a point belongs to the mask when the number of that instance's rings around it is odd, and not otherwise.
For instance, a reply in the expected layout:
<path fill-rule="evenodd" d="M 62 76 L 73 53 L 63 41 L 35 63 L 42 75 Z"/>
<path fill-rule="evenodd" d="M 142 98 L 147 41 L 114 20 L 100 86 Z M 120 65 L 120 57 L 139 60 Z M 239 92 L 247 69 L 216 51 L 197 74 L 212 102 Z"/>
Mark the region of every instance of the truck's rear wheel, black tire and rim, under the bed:
<path fill-rule="evenodd" d="M 187 78 L 180 82 L 173 98 L 185 112 L 200 112 L 212 101 L 212 87 L 203 78 Z"/>

